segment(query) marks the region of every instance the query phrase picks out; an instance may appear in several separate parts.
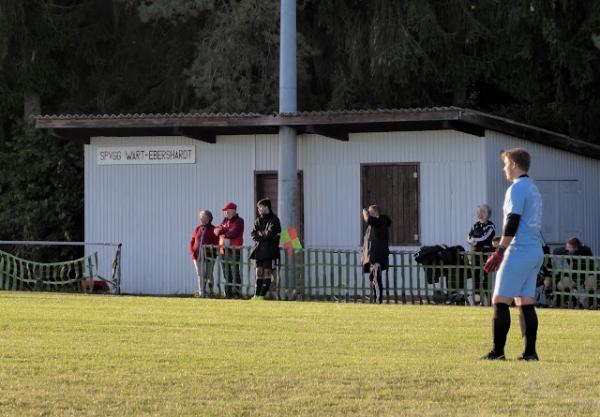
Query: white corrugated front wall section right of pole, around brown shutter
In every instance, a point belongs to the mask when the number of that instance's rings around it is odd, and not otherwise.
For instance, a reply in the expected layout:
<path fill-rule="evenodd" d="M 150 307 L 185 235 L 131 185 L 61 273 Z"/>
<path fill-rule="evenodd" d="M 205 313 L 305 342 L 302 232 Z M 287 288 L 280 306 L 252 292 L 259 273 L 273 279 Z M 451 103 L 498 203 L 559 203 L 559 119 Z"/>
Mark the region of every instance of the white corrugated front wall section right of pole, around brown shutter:
<path fill-rule="evenodd" d="M 420 165 L 421 243 L 465 244 L 474 207 L 485 196 L 483 143 L 455 131 L 361 133 L 349 142 L 305 136 L 305 234 L 308 245 L 356 247 L 360 236 L 360 164 Z M 394 219 L 392 219 L 393 221 Z"/>

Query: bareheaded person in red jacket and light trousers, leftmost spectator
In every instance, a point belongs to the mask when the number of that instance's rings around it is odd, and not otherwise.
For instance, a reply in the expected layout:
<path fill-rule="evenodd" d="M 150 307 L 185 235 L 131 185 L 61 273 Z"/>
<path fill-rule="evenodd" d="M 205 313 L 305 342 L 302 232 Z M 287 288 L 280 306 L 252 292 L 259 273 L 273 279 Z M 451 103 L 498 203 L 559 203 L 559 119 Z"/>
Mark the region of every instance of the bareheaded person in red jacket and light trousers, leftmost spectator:
<path fill-rule="evenodd" d="M 216 253 L 213 248 L 205 248 L 205 245 L 217 245 L 219 239 L 215 236 L 215 227 L 212 225 L 212 213 L 208 210 L 201 210 L 198 215 L 200 224 L 194 230 L 192 240 L 190 240 L 190 253 L 196 277 L 198 280 L 198 297 L 205 297 L 207 287 L 212 293 L 212 274 Z"/>

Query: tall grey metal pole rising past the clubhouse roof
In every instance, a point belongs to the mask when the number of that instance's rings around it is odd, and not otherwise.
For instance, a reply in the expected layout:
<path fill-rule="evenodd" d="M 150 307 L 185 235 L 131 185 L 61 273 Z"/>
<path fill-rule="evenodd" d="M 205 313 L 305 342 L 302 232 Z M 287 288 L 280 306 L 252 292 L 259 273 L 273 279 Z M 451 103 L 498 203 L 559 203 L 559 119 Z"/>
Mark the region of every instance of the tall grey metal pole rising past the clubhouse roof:
<path fill-rule="evenodd" d="M 279 45 L 279 112 L 295 113 L 296 99 L 296 0 L 281 0 Z M 299 227 L 298 139 L 296 130 L 279 129 L 278 211 L 283 228 Z"/>

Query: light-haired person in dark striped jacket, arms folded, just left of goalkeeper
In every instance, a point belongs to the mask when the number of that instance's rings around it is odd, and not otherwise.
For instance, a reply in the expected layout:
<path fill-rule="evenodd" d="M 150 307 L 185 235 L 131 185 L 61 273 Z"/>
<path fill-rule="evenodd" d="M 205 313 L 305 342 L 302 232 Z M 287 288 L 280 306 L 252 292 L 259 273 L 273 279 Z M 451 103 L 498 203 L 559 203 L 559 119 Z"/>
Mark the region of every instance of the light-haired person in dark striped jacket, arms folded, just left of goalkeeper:
<path fill-rule="evenodd" d="M 496 236 L 496 225 L 490 220 L 492 209 L 487 204 L 477 206 L 477 223 L 471 227 L 467 241 L 473 252 L 493 252 L 492 240 Z M 473 274 L 473 303 L 481 303 L 481 292 L 488 287 L 488 274 L 479 269 L 483 266 L 482 255 L 473 255 L 473 266 L 478 267 Z"/>

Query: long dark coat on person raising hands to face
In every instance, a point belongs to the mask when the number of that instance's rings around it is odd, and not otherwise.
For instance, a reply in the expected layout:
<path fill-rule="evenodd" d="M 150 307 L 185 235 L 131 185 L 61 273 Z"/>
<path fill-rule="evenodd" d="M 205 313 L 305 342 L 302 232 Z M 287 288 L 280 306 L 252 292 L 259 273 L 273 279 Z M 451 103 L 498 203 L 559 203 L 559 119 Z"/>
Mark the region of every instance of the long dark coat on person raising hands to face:
<path fill-rule="evenodd" d="M 369 272 L 371 264 L 378 263 L 381 270 L 388 269 L 388 258 L 390 255 L 389 229 L 392 221 L 388 216 L 382 214 L 377 217 L 367 218 L 367 231 L 363 240 L 363 271 Z"/>

